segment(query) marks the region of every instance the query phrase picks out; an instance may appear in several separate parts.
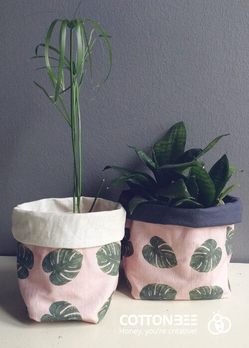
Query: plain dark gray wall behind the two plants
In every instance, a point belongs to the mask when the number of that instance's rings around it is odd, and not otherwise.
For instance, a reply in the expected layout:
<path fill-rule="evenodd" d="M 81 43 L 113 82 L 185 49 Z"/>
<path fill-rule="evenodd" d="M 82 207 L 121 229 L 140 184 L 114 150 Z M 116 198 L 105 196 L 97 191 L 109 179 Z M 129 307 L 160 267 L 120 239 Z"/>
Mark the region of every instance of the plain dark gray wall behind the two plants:
<path fill-rule="evenodd" d="M 72 193 L 66 122 L 32 80 L 26 65 L 56 17 L 72 17 L 78 0 L 0 3 L 0 255 L 14 255 L 11 210 L 18 203 Z M 47 12 L 56 11 L 60 13 Z M 206 156 L 224 153 L 245 169 L 234 194 L 244 203 L 233 261 L 248 262 L 249 1 L 84 0 L 78 16 L 95 18 L 113 36 L 113 70 L 98 97 L 84 88 L 84 195 L 94 195 L 109 164 L 141 169 L 126 144 L 144 150 L 184 120 L 187 147 L 231 132 Z M 45 82 L 44 82 L 45 83 Z M 119 189 L 103 197 L 117 199 Z"/>

